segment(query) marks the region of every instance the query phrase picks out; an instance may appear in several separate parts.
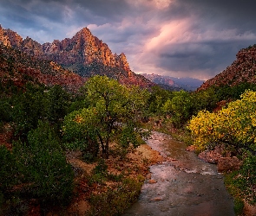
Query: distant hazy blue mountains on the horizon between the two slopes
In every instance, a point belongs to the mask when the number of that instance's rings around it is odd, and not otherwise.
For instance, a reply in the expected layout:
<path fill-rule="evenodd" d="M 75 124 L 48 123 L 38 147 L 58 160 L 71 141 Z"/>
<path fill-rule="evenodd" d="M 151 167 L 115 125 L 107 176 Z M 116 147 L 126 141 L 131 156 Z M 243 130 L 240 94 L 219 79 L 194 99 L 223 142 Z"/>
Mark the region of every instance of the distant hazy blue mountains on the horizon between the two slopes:
<path fill-rule="evenodd" d="M 193 78 L 174 78 L 169 76 L 161 76 L 158 74 L 147 74 L 141 73 L 144 77 L 151 80 L 155 84 L 163 86 L 167 89 L 171 90 L 187 90 L 187 91 L 194 91 L 196 90 L 202 83 L 203 80 L 200 79 L 193 79 Z"/>

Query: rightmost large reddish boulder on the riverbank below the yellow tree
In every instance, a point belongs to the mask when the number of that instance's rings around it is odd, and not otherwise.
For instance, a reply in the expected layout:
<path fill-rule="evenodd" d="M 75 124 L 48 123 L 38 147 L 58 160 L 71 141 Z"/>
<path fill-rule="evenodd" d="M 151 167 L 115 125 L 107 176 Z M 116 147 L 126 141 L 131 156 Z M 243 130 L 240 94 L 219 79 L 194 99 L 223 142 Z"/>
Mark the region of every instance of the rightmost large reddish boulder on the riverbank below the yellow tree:
<path fill-rule="evenodd" d="M 238 170 L 240 168 L 240 160 L 236 157 L 220 157 L 218 161 L 218 172 Z"/>

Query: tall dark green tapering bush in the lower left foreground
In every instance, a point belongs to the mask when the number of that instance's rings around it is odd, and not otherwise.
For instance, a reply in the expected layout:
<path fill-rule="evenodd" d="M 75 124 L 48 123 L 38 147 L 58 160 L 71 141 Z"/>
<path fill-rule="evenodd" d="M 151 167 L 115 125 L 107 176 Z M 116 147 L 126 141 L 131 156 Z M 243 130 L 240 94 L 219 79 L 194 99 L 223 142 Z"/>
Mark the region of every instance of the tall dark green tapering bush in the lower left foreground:
<path fill-rule="evenodd" d="M 29 133 L 29 192 L 43 203 L 67 202 L 73 190 L 74 173 L 66 162 L 58 138 L 48 123 L 39 122 Z"/>

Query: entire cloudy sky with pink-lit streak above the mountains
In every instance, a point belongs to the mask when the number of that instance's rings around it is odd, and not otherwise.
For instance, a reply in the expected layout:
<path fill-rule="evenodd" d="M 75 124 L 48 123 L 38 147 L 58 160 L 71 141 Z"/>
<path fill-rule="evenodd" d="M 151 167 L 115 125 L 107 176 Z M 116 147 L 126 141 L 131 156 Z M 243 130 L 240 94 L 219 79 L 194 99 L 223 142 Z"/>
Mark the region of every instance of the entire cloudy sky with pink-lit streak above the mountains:
<path fill-rule="evenodd" d="M 255 0 L 0 0 L 0 24 L 43 42 L 88 27 L 135 73 L 210 79 L 256 43 Z"/>

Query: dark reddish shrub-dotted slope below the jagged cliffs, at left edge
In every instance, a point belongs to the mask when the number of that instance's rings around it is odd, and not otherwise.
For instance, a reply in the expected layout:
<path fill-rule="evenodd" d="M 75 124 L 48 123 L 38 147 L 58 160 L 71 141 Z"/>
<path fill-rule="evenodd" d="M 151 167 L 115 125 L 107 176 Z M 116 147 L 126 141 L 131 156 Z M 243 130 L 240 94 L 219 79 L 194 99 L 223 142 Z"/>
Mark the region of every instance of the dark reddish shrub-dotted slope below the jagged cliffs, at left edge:
<path fill-rule="evenodd" d="M 75 92 L 84 84 L 85 78 L 54 61 L 36 60 L 0 43 L 0 84 L 23 88 L 28 82 L 45 86 L 61 85 L 67 91 Z"/>

